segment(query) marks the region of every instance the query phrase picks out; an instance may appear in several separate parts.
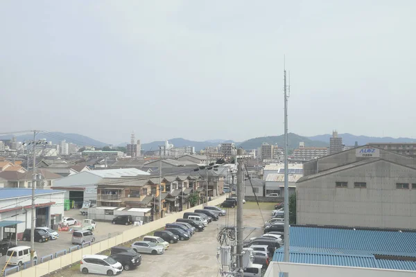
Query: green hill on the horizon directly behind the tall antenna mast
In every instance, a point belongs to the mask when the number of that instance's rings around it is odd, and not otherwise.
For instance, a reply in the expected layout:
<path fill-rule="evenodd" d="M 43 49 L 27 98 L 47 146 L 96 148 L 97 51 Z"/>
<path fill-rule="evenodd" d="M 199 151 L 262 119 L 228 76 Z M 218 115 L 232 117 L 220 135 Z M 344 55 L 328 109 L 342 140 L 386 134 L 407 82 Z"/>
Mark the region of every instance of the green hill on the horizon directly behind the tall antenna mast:
<path fill-rule="evenodd" d="M 305 143 L 305 147 L 327 147 L 329 143 L 325 143 L 323 141 L 312 141 L 308 139 L 306 136 L 299 136 L 297 134 L 289 133 L 288 134 L 288 146 L 289 149 L 296 149 L 299 147 L 300 142 Z M 262 143 L 268 144 L 277 144 L 279 147 L 284 147 L 284 135 L 281 136 L 262 136 L 255 139 L 249 139 L 248 141 L 244 141 L 239 145 L 239 147 L 244 149 L 255 149 L 259 148 Z"/>

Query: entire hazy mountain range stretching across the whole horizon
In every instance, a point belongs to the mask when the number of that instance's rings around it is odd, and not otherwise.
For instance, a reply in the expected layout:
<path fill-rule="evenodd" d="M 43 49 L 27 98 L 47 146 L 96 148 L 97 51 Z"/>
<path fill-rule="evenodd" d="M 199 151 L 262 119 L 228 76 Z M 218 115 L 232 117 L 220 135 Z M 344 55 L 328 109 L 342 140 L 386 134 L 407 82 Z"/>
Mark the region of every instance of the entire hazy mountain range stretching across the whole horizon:
<path fill-rule="evenodd" d="M 331 134 L 321 134 L 318 136 L 300 136 L 298 134 L 289 133 L 288 134 L 288 146 L 290 149 L 295 149 L 299 147 L 300 142 L 304 142 L 306 147 L 327 147 L 329 146 L 329 139 Z M 413 143 L 416 142 L 416 139 L 400 137 L 392 138 L 389 136 L 386 137 L 376 137 L 376 136 L 355 136 L 353 134 L 338 134 L 343 138 L 343 143 L 345 145 L 354 145 L 357 141 L 358 145 L 365 145 L 367 143 Z M 12 135 L 0 136 L 0 139 L 11 139 Z M 22 134 L 17 136 L 17 141 L 28 141 L 33 139 L 33 134 Z M 41 132 L 37 134 L 37 139 L 46 139 L 47 141 L 52 141 L 54 144 L 59 144 L 60 141 L 66 140 L 67 143 L 76 143 L 79 146 L 92 145 L 98 148 L 103 148 L 107 143 L 101 141 L 96 141 L 91 139 L 88 136 L 83 136 L 81 134 L 71 134 L 71 133 L 62 133 L 62 132 Z M 236 146 L 250 150 L 259 148 L 262 143 L 277 144 L 281 147 L 284 146 L 284 135 L 280 136 L 261 136 L 254 139 L 249 139 L 243 141 L 242 143 L 235 142 L 232 140 L 225 139 L 211 139 L 208 141 L 189 141 L 187 139 L 175 138 L 169 139 L 169 143 L 175 145 L 175 147 L 184 147 L 184 146 L 193 146 L 196 151 L 202 150 L 207 146 L 217 146 L 220 143 L 235 143 Z M 128 143 L 120 143 L 116 146 L 125 146 Z M 151 143 L 143 143 L 141 148 L 143 150 L 158 150 L 159 145 L 164 145 L 164 141 L 153 141 Z"/>

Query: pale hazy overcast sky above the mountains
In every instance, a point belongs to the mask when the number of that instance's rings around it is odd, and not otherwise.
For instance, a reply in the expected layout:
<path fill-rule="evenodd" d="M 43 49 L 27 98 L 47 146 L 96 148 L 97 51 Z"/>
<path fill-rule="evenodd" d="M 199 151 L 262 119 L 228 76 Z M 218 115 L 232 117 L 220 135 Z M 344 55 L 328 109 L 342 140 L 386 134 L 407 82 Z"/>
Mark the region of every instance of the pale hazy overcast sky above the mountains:
<path fill-rule="evenodd" d="M 416 1 L 0 3 L 0 132 L 413 136 Z"/>

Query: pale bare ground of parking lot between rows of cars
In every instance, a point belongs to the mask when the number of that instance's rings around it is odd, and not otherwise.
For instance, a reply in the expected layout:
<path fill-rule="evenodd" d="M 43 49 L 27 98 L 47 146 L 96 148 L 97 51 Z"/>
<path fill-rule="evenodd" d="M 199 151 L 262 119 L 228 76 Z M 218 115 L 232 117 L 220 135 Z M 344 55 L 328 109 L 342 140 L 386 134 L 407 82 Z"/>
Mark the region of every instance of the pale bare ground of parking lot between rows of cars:
<path fill-rule="evenodd" d="M 274 204 L 261 203 L 264 220 L 270 219 L 270 211 Z M 163 255 L 152 256 L 142 254 L 141 265 L 131 271 L 123 271 L 122 276 L 217 276 L 217 248 L 216 240 L 220 226 L 235 224 L 235 208 L 228 208 L 228 215 L 220 217 L 220 220 L 211 222 L 202 232 L 196 232 L 189 241 L 180 241 L 171 244 Z M 244 204 L 244 226 L 257 227 L 247 228 L 244 238 L 251 238 L 263 233 L 261 228 L 264 224 L 256 203 Z M 114 226 L 115 227 L 115 226 Z M 125 227 L 125 226 L 121 226 Z M 69 269 L 58 272 L 56 276 L 84 276 L 75 265 Z"/>

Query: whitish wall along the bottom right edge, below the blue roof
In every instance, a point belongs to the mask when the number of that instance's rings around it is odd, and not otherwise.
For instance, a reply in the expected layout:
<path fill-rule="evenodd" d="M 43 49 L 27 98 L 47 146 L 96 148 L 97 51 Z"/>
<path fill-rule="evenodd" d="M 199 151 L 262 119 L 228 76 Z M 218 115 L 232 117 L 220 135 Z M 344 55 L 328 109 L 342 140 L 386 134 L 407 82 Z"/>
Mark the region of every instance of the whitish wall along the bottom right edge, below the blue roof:
<path fill-rule="evenodd" d="M 320 276 L 320 277 L 411 277 L 415 271 L 395 269 L 373 269 L 366 267 L 338 267 L 334 265 L 306 265 L 293 262 L 270 262 L 264 276 L 280 277 L 281 272 L 288 276 Z"/>

